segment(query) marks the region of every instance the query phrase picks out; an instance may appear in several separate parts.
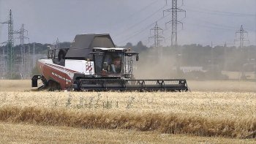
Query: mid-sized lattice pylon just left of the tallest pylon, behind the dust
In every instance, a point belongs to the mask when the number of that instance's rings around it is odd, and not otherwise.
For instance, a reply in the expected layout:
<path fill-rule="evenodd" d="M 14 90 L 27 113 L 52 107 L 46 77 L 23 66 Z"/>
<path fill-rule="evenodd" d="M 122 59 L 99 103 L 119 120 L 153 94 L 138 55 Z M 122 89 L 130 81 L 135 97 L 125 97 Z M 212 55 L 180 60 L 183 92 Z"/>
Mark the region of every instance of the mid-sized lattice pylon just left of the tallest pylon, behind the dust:
<path fill-rule="evenodd" d="M 156 22 L 154 28 L 150 29 L 150 33 L 151 31 L 154 31 L 154 35 L 148 37 L 148 39 L 154 39 L 154 48 L 157 48 L 157 56 L 159 60 L 160 58 L 162 58 L 162 48 L 160 48 L 160 42 L 162 41 L 162 39 L 165 39 L 164 37 L 162 37 L 163 29 L 161 29 Z"/>

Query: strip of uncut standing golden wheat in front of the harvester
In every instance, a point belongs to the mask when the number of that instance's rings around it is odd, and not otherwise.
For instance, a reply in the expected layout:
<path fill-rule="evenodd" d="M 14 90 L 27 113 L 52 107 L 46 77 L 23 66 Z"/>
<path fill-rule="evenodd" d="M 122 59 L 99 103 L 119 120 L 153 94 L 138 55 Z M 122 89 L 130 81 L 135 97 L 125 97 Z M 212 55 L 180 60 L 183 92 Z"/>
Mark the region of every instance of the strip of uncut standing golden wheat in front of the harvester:
<path fill-rule="evenodd" d="M 0 99 L 5 122 L 238 138 L 256 131 L 252 93 L 7 92 Z"/>

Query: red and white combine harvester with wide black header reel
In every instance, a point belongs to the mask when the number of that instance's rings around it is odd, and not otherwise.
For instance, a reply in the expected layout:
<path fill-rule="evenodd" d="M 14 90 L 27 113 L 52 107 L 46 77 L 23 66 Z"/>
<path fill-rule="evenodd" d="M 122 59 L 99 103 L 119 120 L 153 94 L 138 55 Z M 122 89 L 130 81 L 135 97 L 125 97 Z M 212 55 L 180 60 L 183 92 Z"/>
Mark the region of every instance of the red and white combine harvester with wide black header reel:
<path fill-rule="evenodd" d="M 134 60 L 138 53 L 116 48 L 109 34 L 80 34 L 70 48 L 48 50 L 48 58 L 38 60 L 41 75 L 32 77 L 32 87 L 40 79 L 39 89 L 49 90 L 188 91 L 184 79 L 135 80 Z"/>

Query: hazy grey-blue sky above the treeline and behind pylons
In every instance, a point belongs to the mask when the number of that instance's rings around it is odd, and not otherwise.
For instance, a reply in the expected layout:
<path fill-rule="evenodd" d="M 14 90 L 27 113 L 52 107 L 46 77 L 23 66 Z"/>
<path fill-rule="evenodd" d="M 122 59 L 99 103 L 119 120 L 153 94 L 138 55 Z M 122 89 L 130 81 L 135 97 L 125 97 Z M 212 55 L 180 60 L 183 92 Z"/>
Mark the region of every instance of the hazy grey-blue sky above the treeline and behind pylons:
<path fill-rule="evenodd" d="M 14 29 L 22 23 L 29 31 L 30 42 L 72 42 L 76 34 L 109 33 L 116 45 L 148 41 L 154 23 L 164 29 L 170 45 L 170 15 L 162 18 L 162 10 L 171 7 L 171 0 L 0 0 L 0 21 L 8 19 L 12 9 Z M 182 1 L 178 0 L 181 6 Z M 255 45 L 256 0 L 184 0 L 187 10 L 178 15 L 184 27 L 178 26 L 178 44 L 233 45 L 236 31 L 244 25 L 250 44 Z M 167 14 L 167 13 L 166 13 Z M 244 15 L 246 14 L 246 15 Z M 0 25 L 0 42 L 7 40 L 7 25 Z M 18 44 L 18 39 L 16 39 Z"/>

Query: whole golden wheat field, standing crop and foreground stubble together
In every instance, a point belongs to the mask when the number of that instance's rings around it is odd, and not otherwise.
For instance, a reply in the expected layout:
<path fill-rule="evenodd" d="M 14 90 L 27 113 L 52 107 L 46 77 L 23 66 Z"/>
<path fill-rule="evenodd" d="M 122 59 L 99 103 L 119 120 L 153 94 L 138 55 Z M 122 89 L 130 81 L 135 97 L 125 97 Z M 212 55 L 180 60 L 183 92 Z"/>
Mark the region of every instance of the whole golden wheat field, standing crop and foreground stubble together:
<path fill-rule="evenodd" d="M 255 84 L 241 92 L 236 88 L 200 91 L 200 82 L 197 91 L 187 93 L 121 93 L 33 91 L 28 82 L 6 80 L 10 84 L 0 88 L 0 129 L 4 129 L 0 134 L 4 142 L 13 134 L 14 141 L 29 137 L 31 143 L 47 143 L 53 139 L 42 131 L 48 131 L 60 138 L 56 143 L 256 143 Z M 22 88 L 12 90 L 19 83 L 24 83 Z M 243 83 L 244 87 L 253 84 Z M 31 127 L 37 127 L 39 134 L 29 134 Z M 80 138 L 88 133 L 91 138 Z M 118 139 L 113 141 L 110 135 Z"/>

